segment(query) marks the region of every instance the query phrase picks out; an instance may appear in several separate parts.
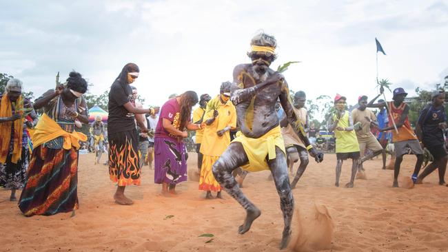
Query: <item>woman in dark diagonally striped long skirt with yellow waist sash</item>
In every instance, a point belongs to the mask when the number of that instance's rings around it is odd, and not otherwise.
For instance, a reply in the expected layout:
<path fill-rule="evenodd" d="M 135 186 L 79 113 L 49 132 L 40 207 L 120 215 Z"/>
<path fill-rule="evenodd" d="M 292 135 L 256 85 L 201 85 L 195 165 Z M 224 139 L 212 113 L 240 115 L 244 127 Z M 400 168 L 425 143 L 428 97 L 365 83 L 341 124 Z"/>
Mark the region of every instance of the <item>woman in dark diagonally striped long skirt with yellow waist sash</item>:
<path fill-rule="evenodd" d="M 70 72 L 65 84 L 48 90 L 34 103 L 43 115 L 33 134 L 28 182 L 21 193 L 19 209 L 25 216 L 50 216 L 78 209 L 78 149 L 87 136 L 75 132 L 77 119 L 89 123 L 87 104 L 81 96 L 87 82 Z"/>

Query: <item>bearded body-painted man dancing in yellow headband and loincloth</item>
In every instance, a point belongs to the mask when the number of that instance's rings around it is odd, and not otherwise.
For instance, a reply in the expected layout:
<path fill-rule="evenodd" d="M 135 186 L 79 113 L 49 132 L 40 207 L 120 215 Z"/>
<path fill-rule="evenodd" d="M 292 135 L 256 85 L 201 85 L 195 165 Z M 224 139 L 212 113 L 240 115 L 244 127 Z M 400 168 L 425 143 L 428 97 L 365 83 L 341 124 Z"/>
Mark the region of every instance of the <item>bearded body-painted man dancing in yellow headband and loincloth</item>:
<path fill-rule="evenodd" d="M 214 163 L 213 174 L 221 187 L 245 208 L 247 216 L 238 229 L 238 233 L 243 234 L 249 231 L 261 211 L 243 194 L 232 171 L 237 167 L 247 171 L 271 171 L 281 198 L 285 227 L 280 247 L 284 249 L 291 234 L 294 199 L 289 186 L 285 144 L 275 110 L 277 98 L 280 98 L 289 123 L 296 126 L 296 134 L 305 143 L 309 154 L 316 157 L 317 162 L 323 159 L 323 154 L 316 153 L 312 145 L 309 145 L 301 123 L 296 123 L 298 119 L 288 101 L 289 87 L 283 76 L 269 68 L 276 59 L 276 45 L 274 36 L 257 34 L 251 41 L 252 51 L 247 54 L 252 63 L 234 68 L 231 101 L 236 107 L 241 134 L 237 134 Z"/>

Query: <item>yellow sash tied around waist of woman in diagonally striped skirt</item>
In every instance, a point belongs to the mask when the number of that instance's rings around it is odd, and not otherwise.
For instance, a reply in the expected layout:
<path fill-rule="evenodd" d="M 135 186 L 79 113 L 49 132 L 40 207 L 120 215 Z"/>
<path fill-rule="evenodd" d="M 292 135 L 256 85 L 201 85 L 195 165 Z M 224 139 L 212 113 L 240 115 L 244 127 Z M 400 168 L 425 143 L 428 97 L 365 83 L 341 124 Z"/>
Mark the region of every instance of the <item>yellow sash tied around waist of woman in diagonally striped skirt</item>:
<path fill-rule="evenodd" d="M 37 123 L 35 129 L 36 130 L 32 136 L 34 148 L 60 136 L 64 138 L 63 149 L 71 149 L 72 146 L 79 149 L 79 141 L 87 140 L 87 136 L 81 132 L 65 132 L 61 126 L 45 113 L 43 113 L 39 119 L 39 123 Z"/>

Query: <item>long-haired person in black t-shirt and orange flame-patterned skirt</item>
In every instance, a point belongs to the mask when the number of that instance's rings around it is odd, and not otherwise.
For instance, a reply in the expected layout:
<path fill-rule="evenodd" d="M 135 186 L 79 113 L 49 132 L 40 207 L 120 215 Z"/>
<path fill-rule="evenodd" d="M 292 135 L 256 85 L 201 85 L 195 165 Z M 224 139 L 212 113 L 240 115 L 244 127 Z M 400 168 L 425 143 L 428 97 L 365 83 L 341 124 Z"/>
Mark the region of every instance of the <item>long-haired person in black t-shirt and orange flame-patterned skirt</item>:
<path fill-rule="evenodd" d="M 130 86 L 139 77 L 139 67 L 126 64 L 110 87 L 108 103 L 109 176 L 118 186 L 114 194 L 117 204 L 133 204 L 125 196 L 127 185 L 140 185 L 139 138 L 135 122 L 142 132 L 147 132 L 144 116 L 154 114 L 157 109 L 143 109 L 135 106 Z"/>

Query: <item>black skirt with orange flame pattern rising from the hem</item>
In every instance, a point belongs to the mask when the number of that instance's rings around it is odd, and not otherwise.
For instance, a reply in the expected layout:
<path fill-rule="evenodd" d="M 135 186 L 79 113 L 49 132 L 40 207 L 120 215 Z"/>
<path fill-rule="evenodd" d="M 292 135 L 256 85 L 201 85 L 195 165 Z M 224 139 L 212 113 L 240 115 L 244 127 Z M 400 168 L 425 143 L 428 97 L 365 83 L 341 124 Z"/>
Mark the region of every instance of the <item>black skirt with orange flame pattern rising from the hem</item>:
<path fill-rule="evenodd" d="M 137 131 L 108 135 L 110 180 L 120 187 L 140 185 L 139 140 Z"/>

